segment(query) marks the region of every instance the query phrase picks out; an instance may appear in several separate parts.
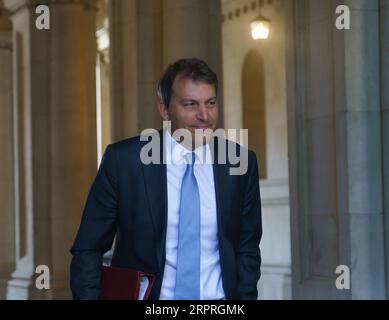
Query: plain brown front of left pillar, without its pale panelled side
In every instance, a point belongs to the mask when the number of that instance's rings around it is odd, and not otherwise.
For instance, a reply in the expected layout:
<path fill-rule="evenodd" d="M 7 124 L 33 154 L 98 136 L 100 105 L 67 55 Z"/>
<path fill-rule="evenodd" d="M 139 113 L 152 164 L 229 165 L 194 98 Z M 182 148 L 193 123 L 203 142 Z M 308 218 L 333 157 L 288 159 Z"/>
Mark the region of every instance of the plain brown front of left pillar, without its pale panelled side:
<path fill-rule="evenodd" d="M 94 4 L 51 6 L 49 221 L 52 277 L 60 290 L 68 287 L 69 249 L 97 168 Z"/>

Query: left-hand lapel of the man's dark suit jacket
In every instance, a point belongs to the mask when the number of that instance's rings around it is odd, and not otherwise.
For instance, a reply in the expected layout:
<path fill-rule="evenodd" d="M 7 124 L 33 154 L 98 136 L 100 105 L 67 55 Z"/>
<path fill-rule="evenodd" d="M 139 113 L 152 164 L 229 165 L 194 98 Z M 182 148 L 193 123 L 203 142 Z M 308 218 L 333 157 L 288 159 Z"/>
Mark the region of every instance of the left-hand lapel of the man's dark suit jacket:
<path fill-rule="evenodd" d="M 164 135 L 159 131 L 160 159 L 163 160 Z M 156 251 L 159 270 L 163 270 L 166 229 L 167 229 L 167 182 L 166 164 L 142 163 L 146 194 L 149 200 L 149 210 L 156 236 Z"/>

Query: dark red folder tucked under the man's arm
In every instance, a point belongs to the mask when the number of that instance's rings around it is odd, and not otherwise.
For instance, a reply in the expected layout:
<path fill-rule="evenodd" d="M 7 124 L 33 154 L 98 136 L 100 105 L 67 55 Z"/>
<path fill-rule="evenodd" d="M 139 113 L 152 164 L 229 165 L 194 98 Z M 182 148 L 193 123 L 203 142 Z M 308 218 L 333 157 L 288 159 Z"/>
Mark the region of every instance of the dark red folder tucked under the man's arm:
<path fill-rule="evenodd" d="M 147 300 L 155 276 L 142 271 L 118 267 L 102 267 L 101 300 L 139 300 L 141 278 L 146 277 L 148 285 L 143 299 Z"/>

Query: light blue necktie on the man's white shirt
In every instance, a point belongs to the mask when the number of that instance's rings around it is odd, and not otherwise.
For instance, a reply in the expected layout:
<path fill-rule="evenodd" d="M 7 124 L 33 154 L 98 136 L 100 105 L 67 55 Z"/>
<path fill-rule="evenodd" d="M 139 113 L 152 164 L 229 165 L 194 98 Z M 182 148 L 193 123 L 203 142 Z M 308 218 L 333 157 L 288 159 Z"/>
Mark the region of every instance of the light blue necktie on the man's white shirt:
<path fill-rule="evenodd" d="M 193 172 L 195 153 L 181 184 L 175 299 L 200 299 L 200 194 Z M 189 159 L 188 159 L 189 158 Z"/>

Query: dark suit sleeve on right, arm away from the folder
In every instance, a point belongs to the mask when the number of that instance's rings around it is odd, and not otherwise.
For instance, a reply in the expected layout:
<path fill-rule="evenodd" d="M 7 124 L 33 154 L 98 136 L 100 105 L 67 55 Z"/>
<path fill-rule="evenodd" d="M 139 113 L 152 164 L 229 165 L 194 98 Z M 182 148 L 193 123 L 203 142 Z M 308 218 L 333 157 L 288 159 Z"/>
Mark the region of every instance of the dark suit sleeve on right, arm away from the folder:
<path fill-rule="evenodd" d="M 248 154 L 249 166 L 245 179 L 246 192 L 237 254 L 238 291 L 241 299 L 255 300 L 258 297 L 257 283 L 261 276 L 259 243 L 262 237 L 262 218 L 257 158 L 252 151 Z"/>

